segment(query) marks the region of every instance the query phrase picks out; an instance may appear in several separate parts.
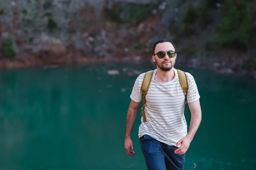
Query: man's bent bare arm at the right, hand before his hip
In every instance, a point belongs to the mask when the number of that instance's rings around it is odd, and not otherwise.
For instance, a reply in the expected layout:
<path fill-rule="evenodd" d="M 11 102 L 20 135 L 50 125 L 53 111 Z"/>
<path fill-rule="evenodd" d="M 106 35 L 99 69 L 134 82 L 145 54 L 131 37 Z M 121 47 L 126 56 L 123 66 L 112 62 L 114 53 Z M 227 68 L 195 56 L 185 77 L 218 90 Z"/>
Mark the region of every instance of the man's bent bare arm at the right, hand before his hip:
<path fill-rule="evenodd" d="M 200 101 L 197 100 L 188 104 L 189 104 L 189 110 L 191 112 L 191 121 L 189 124 L 189 131 L 187 135 L 184 138 L 181 138 L 180 141 L 178 141 L 176 144 L 176 147 L 179 144 L 181 144 L 181 146 L 174 152 L 175 154 L 178 154 L 178 155 L 186 153 L 186 151 L 189 149 L 189 145 L 193 140 L 195 133 L 197 132 L 198 127 L 202 120 Z"/>

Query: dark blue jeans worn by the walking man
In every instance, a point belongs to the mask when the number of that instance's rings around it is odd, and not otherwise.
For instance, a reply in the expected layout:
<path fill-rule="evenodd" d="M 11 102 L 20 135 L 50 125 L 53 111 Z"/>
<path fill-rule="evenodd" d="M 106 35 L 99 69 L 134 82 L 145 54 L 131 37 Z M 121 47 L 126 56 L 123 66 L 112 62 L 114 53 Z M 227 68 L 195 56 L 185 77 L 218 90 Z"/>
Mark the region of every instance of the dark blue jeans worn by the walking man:
<path fill-rule="evenodd" d="M 149 135 L 140 137 L 140 147 L 148 170 L 183 170 L 185 153 L 175 154 L 178 147 L 164 144 Z"/>

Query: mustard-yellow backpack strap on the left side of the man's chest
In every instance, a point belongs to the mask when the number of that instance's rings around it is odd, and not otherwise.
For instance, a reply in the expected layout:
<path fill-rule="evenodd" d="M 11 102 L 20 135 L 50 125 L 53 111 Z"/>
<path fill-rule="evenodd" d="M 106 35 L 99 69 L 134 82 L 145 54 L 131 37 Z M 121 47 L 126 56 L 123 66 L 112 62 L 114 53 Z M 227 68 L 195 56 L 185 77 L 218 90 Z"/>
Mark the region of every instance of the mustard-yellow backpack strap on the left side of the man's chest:
<path fill-rule="evenodd" d="M 142 92 L 142 99 L 143 99 L 143 107 L 141 109 L 141 115 L 143 117 L 143 122 L 146 121 L 146 115 L 145 115 L 145 102 L 146 102 L 146 95 L 148 93 L 148 88 L 149 88 L 149 85 L 151 83 L 151 79 L 152 79 L 152 76 L 153 76 L 153 72 L 154 70 L 151 70 L 151 71 L 148 71 L 145 73 L 144 75 L 144 78 L 143 78 L 143 82 L 142 82 L 142 85 L 141 85 L 141 92 Z"/>

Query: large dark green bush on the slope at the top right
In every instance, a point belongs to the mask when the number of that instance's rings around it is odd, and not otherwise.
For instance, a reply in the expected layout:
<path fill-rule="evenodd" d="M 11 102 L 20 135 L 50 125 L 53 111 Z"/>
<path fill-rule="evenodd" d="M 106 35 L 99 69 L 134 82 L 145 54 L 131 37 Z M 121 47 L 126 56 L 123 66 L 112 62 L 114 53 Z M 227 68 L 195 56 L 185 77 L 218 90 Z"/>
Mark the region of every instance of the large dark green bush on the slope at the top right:
<path fill-rule="evenodd" d="M 247 51 L 253 24 L 248 4 L 226 0 L 217 26 L 217 42 L 224 48 Z"/>

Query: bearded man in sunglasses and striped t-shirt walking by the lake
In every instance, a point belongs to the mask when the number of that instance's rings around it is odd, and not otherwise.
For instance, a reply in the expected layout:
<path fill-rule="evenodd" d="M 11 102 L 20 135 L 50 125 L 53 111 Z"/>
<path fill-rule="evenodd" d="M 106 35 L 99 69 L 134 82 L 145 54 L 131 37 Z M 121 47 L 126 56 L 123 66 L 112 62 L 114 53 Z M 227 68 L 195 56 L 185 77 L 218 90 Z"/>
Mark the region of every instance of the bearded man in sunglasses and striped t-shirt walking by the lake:
<path fill-rule="evenodd" d="M 139 127 L 140 147 L 148 170 L 183 170 L 185 153 L 201 123 L 200 95 L 195 80 L 186 72 L 187 103 L 191 121 L 187 131 L 184 117 L 185 96 L 177 70 L 177 54 L 171 40 L 160 39 L 153 45 L 153 61 L 157 64 L 146 95 L 145 116 Z M 140 87 L 145 73 L 138 76 L 131 92 L 125 128 L 125 150 L 134 156 L 131 132 L 142 100 Z"/>

